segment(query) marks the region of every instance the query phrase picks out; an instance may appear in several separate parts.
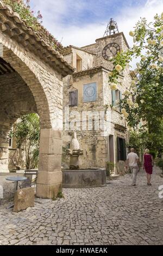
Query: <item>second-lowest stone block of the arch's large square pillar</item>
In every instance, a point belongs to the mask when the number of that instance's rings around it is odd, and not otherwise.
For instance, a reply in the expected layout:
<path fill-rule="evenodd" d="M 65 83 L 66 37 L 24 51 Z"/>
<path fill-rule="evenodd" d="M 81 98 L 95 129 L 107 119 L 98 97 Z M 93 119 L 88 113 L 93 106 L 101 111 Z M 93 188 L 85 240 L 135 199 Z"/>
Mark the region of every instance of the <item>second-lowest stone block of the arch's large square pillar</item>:
<path fill-rule="evenodd" d="M 54 184 L 62 183 L 62 172 L 40 172 L 37 176 L 37 184 Z"/>

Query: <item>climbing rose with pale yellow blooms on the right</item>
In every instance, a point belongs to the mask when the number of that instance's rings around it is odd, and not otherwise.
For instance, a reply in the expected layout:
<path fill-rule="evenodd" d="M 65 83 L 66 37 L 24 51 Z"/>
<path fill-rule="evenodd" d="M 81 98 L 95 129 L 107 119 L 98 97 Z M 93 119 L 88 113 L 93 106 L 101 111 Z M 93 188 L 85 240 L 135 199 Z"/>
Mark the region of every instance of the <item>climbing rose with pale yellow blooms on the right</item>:
<path fill-rule="evenodd" d="M 112 59 L 114 69 L 109 85 L 116 89 L 120 73 L 133 58 L 138 59 L 135 78 L 123 94 L 121 112 L 129 126 L 135 127 L 142 121 L 153 132 L 160 129 L 163 114 L 163 13 L 155 15 L 151 23 L 141 19 L 129 34 L 134 45 Z"/>

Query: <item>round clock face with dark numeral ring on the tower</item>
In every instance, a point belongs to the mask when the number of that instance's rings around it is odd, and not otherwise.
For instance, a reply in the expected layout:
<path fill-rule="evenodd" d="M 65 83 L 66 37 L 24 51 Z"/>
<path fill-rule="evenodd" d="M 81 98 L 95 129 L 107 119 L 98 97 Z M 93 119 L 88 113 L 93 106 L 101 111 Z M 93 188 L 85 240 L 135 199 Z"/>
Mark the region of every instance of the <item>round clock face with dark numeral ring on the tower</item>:
<path fill-rule="evenodd" d="M 103 58 L 109 60 L 110 57 L 115 56 L 118 52 L 120 52 L 120 45 L 111 42 L 103 48 Z"/>

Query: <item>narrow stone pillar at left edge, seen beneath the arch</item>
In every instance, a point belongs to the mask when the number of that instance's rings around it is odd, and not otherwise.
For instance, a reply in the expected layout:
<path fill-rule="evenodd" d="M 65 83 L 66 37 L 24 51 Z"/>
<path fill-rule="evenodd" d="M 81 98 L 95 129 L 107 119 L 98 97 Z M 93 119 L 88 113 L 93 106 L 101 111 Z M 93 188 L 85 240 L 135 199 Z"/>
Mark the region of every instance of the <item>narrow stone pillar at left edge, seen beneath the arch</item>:
<path fill-rule="evenodd" d="M 8 157 L 9 157 L 9 132 L 10 124 L 0 121 L 0 172 L 9 172 Z"/>

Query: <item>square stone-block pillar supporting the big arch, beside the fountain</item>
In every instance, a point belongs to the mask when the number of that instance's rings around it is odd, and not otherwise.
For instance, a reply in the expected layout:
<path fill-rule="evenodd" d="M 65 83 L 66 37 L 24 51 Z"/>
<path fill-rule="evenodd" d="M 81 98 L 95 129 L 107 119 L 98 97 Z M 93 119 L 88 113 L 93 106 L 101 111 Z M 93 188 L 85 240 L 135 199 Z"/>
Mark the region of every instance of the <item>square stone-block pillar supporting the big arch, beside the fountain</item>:
<path fill-rule="evenodd" d="M 41 129 L 36 196 L 54 198 L 62 189 L 61 131 Z"/>

